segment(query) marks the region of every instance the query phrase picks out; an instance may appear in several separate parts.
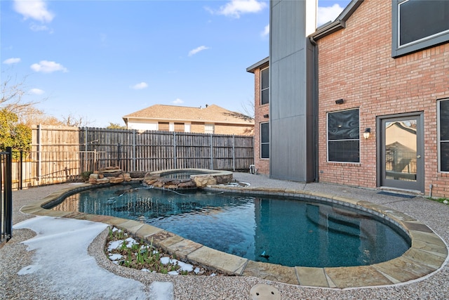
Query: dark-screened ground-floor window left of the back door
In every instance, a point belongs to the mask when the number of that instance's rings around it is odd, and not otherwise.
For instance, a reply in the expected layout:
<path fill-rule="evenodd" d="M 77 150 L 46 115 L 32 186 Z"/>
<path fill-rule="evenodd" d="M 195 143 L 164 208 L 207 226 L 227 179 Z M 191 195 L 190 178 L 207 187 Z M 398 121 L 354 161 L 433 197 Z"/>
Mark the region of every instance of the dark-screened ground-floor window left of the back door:
<path fill-rule="evenodd" d="M 328 113 L 328 162 L 360 162 L 358 109 Z"/>

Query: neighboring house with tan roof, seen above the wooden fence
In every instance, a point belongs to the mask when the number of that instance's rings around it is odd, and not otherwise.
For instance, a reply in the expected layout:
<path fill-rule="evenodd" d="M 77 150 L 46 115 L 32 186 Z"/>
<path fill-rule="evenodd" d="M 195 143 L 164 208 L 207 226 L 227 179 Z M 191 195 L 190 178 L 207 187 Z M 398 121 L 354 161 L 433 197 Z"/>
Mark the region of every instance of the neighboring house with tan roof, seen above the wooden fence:
<path fill-rule="evenodd" d="M 217 105 L 152 105 L 123 116 L 128 129 L 253 135 L 254 119 Z"/>

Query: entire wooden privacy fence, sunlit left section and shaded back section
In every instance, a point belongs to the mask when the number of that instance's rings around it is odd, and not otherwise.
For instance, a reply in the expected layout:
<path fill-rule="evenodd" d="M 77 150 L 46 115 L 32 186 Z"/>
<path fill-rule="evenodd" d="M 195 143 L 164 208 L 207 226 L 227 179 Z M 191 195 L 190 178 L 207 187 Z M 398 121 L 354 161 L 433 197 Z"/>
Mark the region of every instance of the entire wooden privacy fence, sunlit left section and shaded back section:
<path fill-rule="evenodd" d="M 85 171 L 163 169 L 247 171 L 253 136 L 35 126 L 32 150 L 16 154 L 13 188 L 78 181 Z"/>

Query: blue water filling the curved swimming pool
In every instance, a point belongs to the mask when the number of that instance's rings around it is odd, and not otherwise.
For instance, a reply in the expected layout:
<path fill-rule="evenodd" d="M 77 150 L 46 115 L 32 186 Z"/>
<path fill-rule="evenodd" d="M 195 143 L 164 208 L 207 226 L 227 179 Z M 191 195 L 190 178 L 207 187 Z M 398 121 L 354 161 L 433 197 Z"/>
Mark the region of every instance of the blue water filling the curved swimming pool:
<path fill-rule="evenodd" d="M 297 199 L 115 185 L 72 195 L 53 209 L 138 220 L 222 252 L 283 266 L 364 266 L 410 247 L 405 233 L 372 214 Z"/>

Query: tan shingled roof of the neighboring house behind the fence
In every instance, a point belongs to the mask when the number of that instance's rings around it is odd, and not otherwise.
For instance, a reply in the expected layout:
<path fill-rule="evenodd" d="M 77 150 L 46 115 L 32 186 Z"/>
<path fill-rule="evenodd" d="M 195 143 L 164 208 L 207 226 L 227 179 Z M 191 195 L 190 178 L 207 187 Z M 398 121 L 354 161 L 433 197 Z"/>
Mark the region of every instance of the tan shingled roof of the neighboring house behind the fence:
<path fill-rule="evenodd" d="M 253 125 L 254 119 L 240 112 L 232 112 L 217 105 L 206 107 L 185 107 L 175 105 L 152 105 L 150 107 L 123 116 L 123 121 L 128 124 L 128 119 L 157 119 L 174 122 L 205 122 Z"/>

